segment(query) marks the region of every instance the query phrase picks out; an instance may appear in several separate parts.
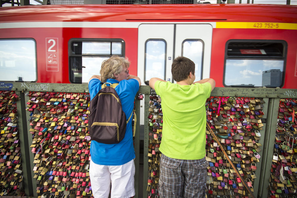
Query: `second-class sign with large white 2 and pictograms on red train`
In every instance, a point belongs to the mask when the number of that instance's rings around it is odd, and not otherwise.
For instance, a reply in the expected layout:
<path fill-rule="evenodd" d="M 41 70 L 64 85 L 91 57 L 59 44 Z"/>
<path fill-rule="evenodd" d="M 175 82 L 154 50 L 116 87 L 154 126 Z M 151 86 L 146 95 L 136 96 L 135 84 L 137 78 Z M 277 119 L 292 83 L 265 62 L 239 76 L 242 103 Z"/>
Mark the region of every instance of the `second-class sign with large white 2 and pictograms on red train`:
<path fill-rule="evenodd" d="M 59 72 L 58 38 L 45 38 L 46 71 Z"/>

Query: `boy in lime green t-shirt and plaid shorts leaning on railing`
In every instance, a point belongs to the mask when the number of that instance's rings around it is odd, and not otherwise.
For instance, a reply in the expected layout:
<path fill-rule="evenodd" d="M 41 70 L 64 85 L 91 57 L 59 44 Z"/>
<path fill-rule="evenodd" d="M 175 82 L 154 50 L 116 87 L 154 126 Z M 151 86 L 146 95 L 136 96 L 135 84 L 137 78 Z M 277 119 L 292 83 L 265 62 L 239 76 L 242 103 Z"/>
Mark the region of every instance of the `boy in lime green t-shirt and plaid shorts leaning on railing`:
<path fill-rule="evenodd" d="M 151 78 L 162 100 L 163 129 L 159 151 L 160 197 L 205 197 L 206 99 L 215 87 L 211 78 L 195 80 L 195 63 L 177 57 L 171 73 L 176 84 Z"/>

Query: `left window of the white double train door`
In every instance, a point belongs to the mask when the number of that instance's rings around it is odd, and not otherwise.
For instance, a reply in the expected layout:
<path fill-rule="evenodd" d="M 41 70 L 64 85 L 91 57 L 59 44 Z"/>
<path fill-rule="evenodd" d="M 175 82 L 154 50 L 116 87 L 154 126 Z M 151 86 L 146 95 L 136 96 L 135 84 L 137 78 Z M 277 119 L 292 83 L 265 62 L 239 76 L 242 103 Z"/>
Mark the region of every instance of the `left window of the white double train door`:
<path fill-rule="evenodd" d="M 145 44 L 144 80 L 157 77 L 165 80 L 166 41 L 148 39 Z"/>

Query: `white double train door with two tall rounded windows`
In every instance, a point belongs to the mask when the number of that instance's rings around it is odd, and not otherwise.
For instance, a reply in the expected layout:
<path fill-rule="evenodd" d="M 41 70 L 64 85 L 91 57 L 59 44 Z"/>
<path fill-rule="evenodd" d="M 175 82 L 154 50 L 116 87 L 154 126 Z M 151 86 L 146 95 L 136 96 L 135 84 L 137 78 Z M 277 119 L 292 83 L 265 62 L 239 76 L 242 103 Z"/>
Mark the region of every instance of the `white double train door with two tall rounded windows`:
<path fill-rule="evenodd" d="M 211 39 L 211 24 L 141 24 L 138 28 L 137 75 L 142 84 L 151 77 L 174 82 L 171 64 L 178 56 L 194 61 L 196 80 L 208 78 Z M 144 106 L 144 101 L 142 103 Z M 142 108 L 141 125 L 144 124 L 143 116 Z"/>

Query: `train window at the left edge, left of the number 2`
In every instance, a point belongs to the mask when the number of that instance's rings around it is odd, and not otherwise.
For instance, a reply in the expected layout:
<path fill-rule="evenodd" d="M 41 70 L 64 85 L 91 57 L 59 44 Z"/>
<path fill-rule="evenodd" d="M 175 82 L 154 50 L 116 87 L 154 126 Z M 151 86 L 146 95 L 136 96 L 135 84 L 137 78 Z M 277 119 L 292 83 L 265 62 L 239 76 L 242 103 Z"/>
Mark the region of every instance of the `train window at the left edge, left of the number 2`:
<path fill-rule="evenodd" d="M 0 39 L 1 81 L 37 81 L 34 39 Z"/>

